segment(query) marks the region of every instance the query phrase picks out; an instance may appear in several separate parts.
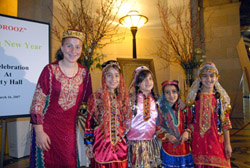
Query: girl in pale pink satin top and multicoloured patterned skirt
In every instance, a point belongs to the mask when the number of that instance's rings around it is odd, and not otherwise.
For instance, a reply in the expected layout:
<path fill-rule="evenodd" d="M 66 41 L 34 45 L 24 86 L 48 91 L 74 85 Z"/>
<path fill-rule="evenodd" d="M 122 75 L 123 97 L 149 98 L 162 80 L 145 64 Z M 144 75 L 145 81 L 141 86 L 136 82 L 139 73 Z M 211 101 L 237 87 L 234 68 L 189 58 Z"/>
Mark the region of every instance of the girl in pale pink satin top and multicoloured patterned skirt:
<path fill-rule="evenodd" d="M 133 74 L 130 86 L 133 119 L 127 134 L 128 167 L 153 168 L 161 164 L 155 139 L 158 111 L 152 76 L 145 66 L 138 67 Z"/>

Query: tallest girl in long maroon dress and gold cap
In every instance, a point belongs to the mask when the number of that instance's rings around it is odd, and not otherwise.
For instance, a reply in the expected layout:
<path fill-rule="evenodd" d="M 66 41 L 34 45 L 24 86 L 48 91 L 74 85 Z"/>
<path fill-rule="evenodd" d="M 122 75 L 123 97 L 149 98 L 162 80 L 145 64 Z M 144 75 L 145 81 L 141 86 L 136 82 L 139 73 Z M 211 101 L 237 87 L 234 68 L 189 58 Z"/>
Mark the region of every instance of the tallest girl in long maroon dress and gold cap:
<path fill-rule="evenodd" d="M 87 68 L 77 63 L 84 35 L 63 33 L 57 60 L 44 67 L 30 108 L 32 143 L 30 167 L 79 167 L 76 143 L 77 113 L 92 93 Z"/>

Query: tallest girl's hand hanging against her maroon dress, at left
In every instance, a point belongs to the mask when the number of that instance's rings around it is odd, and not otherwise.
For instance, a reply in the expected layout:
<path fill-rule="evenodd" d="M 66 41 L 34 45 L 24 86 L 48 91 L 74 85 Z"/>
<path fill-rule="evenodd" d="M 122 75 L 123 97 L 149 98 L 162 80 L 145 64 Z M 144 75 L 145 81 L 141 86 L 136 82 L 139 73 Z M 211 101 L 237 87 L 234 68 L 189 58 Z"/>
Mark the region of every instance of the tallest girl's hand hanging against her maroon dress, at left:
<path fill-rule="evenodd" d="M 42 150 L 48 151 L 50 149 L 50 138 L 44 131 L 36 132 L 36 146 Z"/>

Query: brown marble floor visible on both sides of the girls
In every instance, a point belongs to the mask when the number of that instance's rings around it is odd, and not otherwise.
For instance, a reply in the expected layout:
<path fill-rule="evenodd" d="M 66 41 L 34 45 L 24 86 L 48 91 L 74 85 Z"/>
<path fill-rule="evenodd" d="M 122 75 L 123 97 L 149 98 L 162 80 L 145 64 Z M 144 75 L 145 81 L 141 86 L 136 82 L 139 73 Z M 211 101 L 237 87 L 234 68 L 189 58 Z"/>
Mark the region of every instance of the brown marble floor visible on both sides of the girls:
<path fill-rule="evenodd" d="M 231 145 L 233 148 L 232 168 L 250 168 L 250 120 L 232 119 Z M 27 168 L 29 158 L 5 156 L 4 168 Z"/>

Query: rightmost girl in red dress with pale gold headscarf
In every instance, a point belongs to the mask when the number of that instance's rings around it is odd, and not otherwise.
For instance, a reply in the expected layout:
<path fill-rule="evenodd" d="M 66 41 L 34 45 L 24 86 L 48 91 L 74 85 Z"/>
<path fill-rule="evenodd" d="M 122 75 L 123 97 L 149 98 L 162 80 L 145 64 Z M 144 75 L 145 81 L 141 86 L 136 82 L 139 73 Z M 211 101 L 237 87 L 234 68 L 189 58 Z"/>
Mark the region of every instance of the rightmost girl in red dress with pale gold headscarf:
<path fill-rule="evenodd" d="M 230 98 L 218 78 L 214 63 L 202 64 L 199 78 L 192 84 L 187 97 L 188 104 L 192 105 L 192 153 L 198 168 L 231 167 Z"/>

